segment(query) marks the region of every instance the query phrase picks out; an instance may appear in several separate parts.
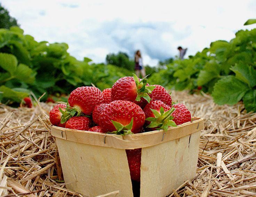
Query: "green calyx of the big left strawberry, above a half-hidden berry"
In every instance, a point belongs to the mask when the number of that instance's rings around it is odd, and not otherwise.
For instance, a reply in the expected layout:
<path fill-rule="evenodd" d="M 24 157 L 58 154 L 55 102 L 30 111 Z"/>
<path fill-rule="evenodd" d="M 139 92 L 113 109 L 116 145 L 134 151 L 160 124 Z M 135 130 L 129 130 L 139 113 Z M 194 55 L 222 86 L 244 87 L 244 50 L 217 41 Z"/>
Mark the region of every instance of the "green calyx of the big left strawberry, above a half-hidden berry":
<path fill-rule="evenodd" d="M 68 119 L 70 119 L 74 116 L 85 116 L 85 115 L 83 115 L 83 113 L 81 112 L 81 110 L 79 108 L 70 107 L 68 103 L 67 103 L 67 107 L 64 108 L 64 110 L 59 107 L 59 111 L 62 113 L 61 124 L 67 122 Z M 90 117 L 90 116 L 86 116 L 86 117 Z"/>

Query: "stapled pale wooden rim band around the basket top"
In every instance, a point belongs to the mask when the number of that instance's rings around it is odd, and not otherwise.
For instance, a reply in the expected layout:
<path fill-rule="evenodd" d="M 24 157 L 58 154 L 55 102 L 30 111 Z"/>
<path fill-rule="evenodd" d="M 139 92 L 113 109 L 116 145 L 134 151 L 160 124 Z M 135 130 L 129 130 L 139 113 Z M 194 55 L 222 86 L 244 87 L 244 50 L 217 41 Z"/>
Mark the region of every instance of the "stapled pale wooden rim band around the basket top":
<path fill-rule="evenodd" d="M 83 144 L 114 147 L 116 149 L 138 149 L 175 140 L 200 131 L 202 128 L 203 119 L 193 118 L 192 123 L 189 122 L 177 127 L 171 127 L 168 129 L 168 131 L 152 131 L 127 136 L 96 133 L 90 131 L 78 131 L 56 126 L 51 127 L 51 134 L 56 138 L 62 138 L 67 141 Z"/>

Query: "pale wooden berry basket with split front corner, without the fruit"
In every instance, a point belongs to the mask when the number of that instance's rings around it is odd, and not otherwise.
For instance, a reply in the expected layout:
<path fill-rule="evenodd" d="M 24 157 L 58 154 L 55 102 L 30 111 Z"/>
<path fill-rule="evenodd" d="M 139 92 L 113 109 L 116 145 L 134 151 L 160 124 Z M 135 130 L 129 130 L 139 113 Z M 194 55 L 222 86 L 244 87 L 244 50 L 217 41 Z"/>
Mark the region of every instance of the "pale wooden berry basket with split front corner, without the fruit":
<path fill-rule="evenodd" d="M 127 136 L 52 126 L 67 183 L 82 195 L 113 192 L 133 197 L 125 149 L 142 148 L 141 197 L 165 197 L 196 175 L 202 118 L 169 128 Z M 105 195 L 104 195 L 105 196 Z"/>

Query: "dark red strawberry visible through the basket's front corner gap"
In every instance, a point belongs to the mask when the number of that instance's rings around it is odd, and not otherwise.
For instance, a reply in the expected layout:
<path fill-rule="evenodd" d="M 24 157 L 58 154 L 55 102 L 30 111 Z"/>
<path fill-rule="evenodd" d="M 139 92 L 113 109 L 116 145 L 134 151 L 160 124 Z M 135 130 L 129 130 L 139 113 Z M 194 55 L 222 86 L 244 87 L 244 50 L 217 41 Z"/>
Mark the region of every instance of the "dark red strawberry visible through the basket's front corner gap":
<path fill-rule="evenodd" d="M 140 181 L 141 179 L 141 149 L 125 150 L 131 179 L 135 181 Z"/>

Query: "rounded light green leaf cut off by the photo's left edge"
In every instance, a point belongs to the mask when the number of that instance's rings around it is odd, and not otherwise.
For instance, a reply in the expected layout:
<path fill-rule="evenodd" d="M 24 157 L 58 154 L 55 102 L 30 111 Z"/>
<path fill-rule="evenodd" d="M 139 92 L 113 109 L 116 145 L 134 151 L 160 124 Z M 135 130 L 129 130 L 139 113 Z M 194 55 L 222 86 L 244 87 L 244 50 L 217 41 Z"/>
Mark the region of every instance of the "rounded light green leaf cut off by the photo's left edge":
<path fill-rule="evenodd" d="M 16 72 L 18 61 L 14 55 L 0 53 L 0 66 L 13 76 Z"/>

